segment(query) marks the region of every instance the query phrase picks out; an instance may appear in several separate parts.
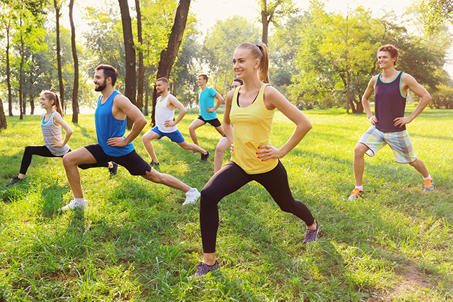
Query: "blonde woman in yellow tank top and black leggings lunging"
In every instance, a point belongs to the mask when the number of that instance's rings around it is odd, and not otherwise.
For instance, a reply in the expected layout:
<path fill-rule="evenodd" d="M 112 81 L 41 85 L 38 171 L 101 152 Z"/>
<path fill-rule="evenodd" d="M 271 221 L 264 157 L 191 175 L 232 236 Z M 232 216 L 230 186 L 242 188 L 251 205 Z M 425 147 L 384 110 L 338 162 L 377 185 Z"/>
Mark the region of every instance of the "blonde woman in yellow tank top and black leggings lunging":
<path fill-rule="evenodd" d="M 219 268 L 215 259 L 219 226 L 217 204 L 224 196 L 252 180 L 269 191 L 281 210 L 294 214 L 306 223 L 304 243 L 315 241 L 318 235 L 318 222 L 303 203 L 292 197 L 285 167 L 278 160 L 299 144 L 311 130 L 311 123 L 288 99 L 269 86 L 269 55 L 264 44 L 245 43 L 238 46 L 233 64 L 238 78 L 244 81 L 244 85 L 228 93 L 223 121 L 229 141 L 234 140 L 234 149 L 231 161 L 211 177 L 201 191 L 200 225 L 204 254 L 194 277 Z M 280 149 L 269 141 L 275 109 L 296 125 L 290 139 Z"/>

